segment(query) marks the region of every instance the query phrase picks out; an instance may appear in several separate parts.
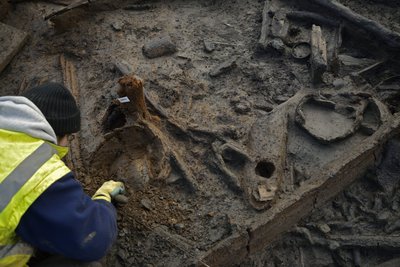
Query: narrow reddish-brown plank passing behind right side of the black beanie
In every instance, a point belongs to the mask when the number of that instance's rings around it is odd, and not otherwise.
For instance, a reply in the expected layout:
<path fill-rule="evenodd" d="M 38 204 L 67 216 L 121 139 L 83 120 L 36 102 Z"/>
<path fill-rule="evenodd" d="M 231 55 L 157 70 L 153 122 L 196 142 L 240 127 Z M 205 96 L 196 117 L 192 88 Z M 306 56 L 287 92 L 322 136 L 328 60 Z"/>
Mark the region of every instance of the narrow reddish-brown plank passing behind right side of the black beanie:
<path fill-rule="evenodd" d="M 76 100 L 76 104 L 78 108 L 80 106 L 79 102 L 79 91 L 78 91 L 78 84 L 76 81 L 74 65 L 68 59 L 66 59 L 63 55 L 60 56 L 60 63 L 61 63 L 61 74 L 64 86 L 70 90 L 72 96 L 74 96 Z M 75 134 L 76 135 L 76 134 Z M 67 167 L 74 171 L 77 175 L 78 170 L 81 167 L 80 163 L 80 150 L 79 150 L 79 138 L 76 138 L 68 143 L 69 152 L 65 157 Z"/>

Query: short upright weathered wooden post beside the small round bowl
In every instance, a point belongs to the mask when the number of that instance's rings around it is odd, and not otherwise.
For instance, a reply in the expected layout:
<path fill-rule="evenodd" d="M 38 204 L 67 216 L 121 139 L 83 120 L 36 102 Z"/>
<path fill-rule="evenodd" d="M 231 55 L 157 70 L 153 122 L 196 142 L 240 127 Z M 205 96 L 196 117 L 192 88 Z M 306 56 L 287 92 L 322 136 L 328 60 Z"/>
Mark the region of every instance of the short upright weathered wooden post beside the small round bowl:
<path fill-rule="evenodd" d="M 311 71 L 314 83 L 322 82 L 322 75 L 328 68 L 326 43 L 322 38 L 320 26 L 312 25 L 311 32 Z"/>

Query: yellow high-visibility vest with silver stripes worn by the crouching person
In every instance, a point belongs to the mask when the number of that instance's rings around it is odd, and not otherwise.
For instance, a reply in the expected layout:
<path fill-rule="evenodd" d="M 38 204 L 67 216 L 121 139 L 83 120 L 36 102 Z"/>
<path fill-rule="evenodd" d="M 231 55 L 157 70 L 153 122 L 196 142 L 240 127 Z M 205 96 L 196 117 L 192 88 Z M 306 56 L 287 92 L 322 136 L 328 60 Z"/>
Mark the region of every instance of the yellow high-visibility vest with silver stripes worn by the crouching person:
<path fill-rule="evenodd" d="M 0 129 L 0 267 L 26 266 L 34 246 L 15 229 L 32 203 L 71 172 L 60 160 L 68 147 Z"/>

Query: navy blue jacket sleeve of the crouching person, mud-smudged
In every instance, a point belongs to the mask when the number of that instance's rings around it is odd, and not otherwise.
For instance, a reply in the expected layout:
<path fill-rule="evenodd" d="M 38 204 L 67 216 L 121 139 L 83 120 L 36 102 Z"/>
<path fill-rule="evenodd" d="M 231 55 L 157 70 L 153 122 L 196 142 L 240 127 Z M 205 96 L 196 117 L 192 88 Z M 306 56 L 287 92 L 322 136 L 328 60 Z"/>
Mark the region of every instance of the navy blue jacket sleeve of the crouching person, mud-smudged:
<path fill-rule="evenodd" d="M 44 191 L 22 216 L 15 232 L 28 243 L 85 262 L 101 259 L 116 239 L 114 205 L 83 193 L 68 173 Z"/>

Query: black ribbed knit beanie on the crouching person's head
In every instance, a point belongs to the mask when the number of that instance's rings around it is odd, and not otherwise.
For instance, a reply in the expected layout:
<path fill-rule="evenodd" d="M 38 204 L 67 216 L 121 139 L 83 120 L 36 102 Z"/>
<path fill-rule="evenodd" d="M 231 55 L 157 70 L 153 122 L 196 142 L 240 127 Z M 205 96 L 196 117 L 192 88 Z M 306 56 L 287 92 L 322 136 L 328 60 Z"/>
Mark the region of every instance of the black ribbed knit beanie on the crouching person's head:
<path fill-rule="evenodd" d="M 80 130 L 80 110 L 75 98 L 62 84 L 46 82 L 20 94 L 28 98 L 43 113 L 58 136 Z"/>

